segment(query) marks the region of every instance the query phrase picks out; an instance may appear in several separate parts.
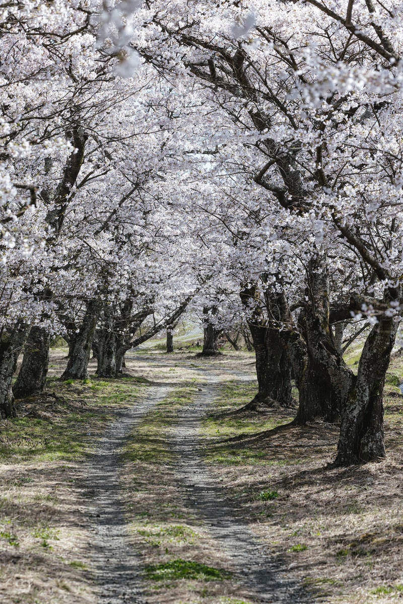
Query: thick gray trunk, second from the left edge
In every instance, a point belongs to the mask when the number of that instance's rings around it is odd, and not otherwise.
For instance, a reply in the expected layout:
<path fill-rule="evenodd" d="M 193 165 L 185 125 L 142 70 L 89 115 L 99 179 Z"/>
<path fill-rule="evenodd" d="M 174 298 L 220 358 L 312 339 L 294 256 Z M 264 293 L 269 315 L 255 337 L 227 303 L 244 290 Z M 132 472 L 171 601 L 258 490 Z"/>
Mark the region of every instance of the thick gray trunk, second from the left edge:
<path fill-rule="evenodd" d="M 31 327 L 21 369 L 13 387 L 16 399 L 45 390 L 49 365 L 50 333 L 44 327 Z"/>

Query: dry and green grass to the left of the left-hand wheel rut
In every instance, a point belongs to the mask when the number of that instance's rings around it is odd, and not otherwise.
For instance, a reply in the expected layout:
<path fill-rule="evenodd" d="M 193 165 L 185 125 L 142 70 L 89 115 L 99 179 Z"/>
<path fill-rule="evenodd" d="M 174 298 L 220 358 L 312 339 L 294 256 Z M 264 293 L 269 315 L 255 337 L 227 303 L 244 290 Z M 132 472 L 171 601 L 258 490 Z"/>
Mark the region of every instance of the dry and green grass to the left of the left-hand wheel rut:
<path fill-rule="evenodd" d="M 56 362 L 64 357 L 56 352 Z M 20 401 L 18 419 L 0 422 L 0 602 L 97 602 L 82 461 L 127 405 L 121 394 L 140 390 L 51 377 L 54 396 Z"/>

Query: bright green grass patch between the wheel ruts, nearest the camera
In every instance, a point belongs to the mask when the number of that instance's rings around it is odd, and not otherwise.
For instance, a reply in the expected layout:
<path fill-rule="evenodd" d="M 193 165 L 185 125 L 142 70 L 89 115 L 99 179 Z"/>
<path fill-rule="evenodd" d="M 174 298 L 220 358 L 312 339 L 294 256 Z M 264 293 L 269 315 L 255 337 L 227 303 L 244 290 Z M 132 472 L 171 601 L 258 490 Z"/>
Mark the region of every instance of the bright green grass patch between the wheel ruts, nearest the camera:
<path fill-rule="evenodd" d="M 178 558 L 161 564 L 149 564 L 145 569 L 146 579 L 153 581 L 174 581 L 180 579 L 193 579 L 196 581 L 222 581 L 230 579 L 232 574 L 221 568 L 214 568 Z"/>

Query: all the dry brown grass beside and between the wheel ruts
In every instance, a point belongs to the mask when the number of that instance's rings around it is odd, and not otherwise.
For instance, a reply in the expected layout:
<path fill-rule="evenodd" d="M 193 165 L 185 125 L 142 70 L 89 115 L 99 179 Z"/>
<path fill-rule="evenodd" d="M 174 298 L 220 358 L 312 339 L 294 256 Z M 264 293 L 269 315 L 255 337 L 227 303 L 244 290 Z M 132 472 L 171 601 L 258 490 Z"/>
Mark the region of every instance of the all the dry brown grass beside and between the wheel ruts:
<path fill-rule="evenodd" d="M 51 374 L 61 373 L 64 356 L 64 351 L 54 354 Z M 397 359 L 390 373 L 400 376 L 401 365 Z M 208 368 L 227 383 L 214 408 L 237 408 L 252 397 L 253 385 L 249 391 L 226 390 L 237 372 L 253 373 L 253 356 L 243 353 L 200 359 L 189 353 L 147 352 L 129 358 L 128 372 L 193 396 Z M 312 602 L 384 604 L 403 597 L 403 398 L 393 379 L 389 382 L 387 458 L 379 463 L 327 469 L 335 455 L 338 426 L 279 428 L 290 416 L 278 410 L 265 416 L 221 417 L 204 425 L 211 472 L 272 556 L 305 584 Z M 0 426 L 0 601 L 92 604 L 97 588 L 80 463 L 114 409 L 144 393 L 129 382 L 96 380 L 63 386 L 51 381 L 48 390 L 57 398 L 28 401 L 20 409 L 25 419 Z M 150 454 L 140 458 L 134 451 L 122 474 L 134 547 L 146 564 L 181 558 L 230 568 L 175 480 L 167 442 L 175 405 L 157 411 L 160 416 L 140 426 L 143 440 L 137 440 Z M 254 437 L 262 430 L 268 432 Z M 242 440 L 224 442 L 241 432 L 247 434 Z M 262 492 L 271 495 L 263 500 Z M 253 603 L 231 580 L 151 580 L 147 590 L 152 604 L 236 604 L 240 598 Z"/>

